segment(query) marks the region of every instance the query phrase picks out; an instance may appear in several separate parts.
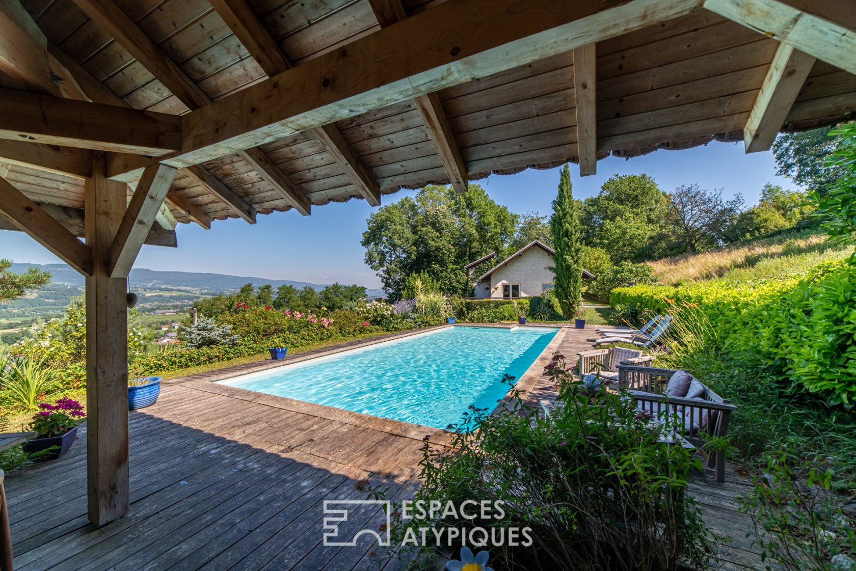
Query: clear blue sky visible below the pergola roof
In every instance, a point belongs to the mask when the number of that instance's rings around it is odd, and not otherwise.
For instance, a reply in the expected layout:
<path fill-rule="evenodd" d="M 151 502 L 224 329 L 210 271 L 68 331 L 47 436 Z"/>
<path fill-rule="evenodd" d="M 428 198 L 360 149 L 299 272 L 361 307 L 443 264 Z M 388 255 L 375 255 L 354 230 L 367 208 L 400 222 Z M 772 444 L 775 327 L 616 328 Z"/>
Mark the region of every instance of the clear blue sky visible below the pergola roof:
<path fill-rule="evenodd" d="M 681 184 L 722 188 L 730 198 L 742 193 L 749 205 L 758 201 L 761 187 L 774 182 L 782 187 L 794 184 L 776 176 L 771 152 L 746 155 L 743 143 L 711 142 L 684 151 L 657 151 L 645 157 L 609 157 L 597 163 L 597 175 L 580 178 L 571 168 L 574 196 L 597 194 L 611 175 L 646 173 L 665 191 Z M 479 181 L 490 197 L 511 211 L 550 213 L 556 195 L 558 169 L 525 170 L 516 175 L 491 175 Z M 383 197 L 389 204 L 416 191 L 401 191 Z M 144 246 L 134 267 L 151 270 L 210 271 L 238 276 L 291 279 L 311 283 L 359 283 L 380 287 L 374 272 L 363 262 L 360 239 L 366 219 L 376 210 L 365 200 L 330 203 L 312 207 L 312 216 L 296 211 L 259 216 L 250 225 L 241 219 L 214 221 L 211 230 L 196 224 L 180 224 L 176 229 L 178 248 Z M 22 232 L 0 230 L 0 258 L 15 262 L 51 264 L 53 254 Z"/>

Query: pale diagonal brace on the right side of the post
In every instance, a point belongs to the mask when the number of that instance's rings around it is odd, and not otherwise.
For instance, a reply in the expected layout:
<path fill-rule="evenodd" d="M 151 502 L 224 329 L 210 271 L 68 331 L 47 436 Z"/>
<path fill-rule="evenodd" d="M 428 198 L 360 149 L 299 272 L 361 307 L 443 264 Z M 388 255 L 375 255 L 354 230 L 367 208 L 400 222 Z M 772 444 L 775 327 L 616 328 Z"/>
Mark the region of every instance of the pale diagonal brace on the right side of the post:
<path fill-rule="evenodd" d="M 172 185 L 175 172 L 173 167 L 156 164 L 143 173 L 110 246 L 108 276 L 128 277 L 134 259 L 137 259 L 143 241 L 152 229 L 155 216 L 163 206 L 163 199 Z"/>

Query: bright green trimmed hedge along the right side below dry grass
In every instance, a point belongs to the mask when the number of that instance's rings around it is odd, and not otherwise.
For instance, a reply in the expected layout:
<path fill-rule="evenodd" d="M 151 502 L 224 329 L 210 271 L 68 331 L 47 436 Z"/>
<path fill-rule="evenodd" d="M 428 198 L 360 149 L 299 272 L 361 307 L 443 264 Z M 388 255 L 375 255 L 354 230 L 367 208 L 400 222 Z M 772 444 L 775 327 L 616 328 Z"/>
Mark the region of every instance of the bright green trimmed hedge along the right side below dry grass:
<path fill-rule="evenodd" d="M 772 369 L 790 390 L 808 390 L 831 405 L 856 401 L 853 260 L 817 265 L 803 279 L 617 288 L 612 300 L 639 311 L 676 312 L 679 319 L 681 312 L 696 312 L 710 324 L 704 342 Z"/>

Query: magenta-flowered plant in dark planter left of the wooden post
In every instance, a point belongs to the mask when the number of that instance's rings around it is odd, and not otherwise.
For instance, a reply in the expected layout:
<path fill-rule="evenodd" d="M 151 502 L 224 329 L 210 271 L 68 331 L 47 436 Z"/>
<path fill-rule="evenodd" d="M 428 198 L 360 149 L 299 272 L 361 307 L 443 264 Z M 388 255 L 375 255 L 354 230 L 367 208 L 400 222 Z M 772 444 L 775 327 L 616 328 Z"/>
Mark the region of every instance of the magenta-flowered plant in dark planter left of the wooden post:
<path fill-rule="evenodd" d="M 44 452 L 45 460 L 56 460 L 68 452 L 77 437 L 77 425 L 86 416 L 83 405 L 68 397 L 56 401 L 56 404 L 42 402 L 39 413 L 33 415 L 30 430 L 39 433 L 33 440 L 21 444 L 27 454 Z"/>

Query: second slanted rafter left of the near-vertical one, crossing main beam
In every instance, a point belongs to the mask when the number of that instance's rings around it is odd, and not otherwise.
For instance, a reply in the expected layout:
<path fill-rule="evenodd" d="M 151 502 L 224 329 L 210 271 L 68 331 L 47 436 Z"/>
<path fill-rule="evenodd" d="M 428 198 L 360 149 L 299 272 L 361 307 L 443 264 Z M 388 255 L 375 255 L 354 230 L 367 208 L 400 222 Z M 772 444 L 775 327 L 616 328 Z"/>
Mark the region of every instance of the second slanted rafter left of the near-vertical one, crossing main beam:
<path fill-rule="evenodd" d="M 265 74 L 269 76 L 281 74 L 292 67 L 288 57 L 270 37 L 270 33 L 246 0 L 211 0 L 211 5 L 235 36 L 241 40 L 241 44 L 247 48 L 253 59 L 259 63 L 259 67 L 265 70 Z M 363 198 L 372 206 L 380 205 L 380 189 L 377 188 L 377 182 L 366 167 L 360 164 L 360 160 L 336 126 L 323 125 L 313 128 L 312 133 L 324 144 L 336 163 L 360 190 Z"/>

